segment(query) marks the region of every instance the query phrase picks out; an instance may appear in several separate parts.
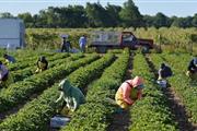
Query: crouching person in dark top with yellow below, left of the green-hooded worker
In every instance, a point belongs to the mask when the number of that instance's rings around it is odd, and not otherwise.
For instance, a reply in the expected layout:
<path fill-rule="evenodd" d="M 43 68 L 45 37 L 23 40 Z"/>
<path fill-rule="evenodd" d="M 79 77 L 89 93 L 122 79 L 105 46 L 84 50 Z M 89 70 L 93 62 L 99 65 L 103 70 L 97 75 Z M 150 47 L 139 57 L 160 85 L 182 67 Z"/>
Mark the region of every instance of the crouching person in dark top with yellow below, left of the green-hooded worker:
<path fill-rule="evenodd" d="M 35 71 L 36 73 L 43 72 L 43 71 L 47 70 L 47 68 L 48 68 L 48 61 L 46 60 L 46 58 L 44 56 L 42 56 L 37 60 L 36 64 L 37 64 L 37 69 Z"/>

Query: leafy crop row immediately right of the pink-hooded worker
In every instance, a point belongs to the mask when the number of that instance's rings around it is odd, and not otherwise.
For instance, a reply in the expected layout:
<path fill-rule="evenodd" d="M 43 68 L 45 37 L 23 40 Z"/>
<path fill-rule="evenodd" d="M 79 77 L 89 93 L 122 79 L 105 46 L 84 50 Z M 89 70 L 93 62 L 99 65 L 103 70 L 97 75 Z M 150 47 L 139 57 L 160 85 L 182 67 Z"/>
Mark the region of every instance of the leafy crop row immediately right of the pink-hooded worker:
<path fill-rule="evenodd" d="M 142 55 L 137 55 L 134 60 L 132 75 L 144 79 L 143 96 L 131 108 L 130 131 L 175 131 L 174 116 L 167 107 L 166 97 L 154 84 L 154 75 L 150 72 Z"/>

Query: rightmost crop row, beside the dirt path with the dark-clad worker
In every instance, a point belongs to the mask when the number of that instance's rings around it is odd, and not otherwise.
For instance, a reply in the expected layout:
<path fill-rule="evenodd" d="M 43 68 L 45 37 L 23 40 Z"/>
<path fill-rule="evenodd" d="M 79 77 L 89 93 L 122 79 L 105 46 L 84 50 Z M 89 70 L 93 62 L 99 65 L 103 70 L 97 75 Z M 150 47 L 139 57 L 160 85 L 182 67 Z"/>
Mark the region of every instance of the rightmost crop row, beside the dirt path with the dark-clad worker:
<path fill-rule="evenodd" d="M 172 67 L 174 75 L 169 79 L 169 82 L 185 105 L 190 121 L 197 123 L 197 82 L 190 81 L 185 74 L 192 57 L 189 55 L 167 53 L 152 55 L 151 57 L 155 64 L 165 60 Z"/>

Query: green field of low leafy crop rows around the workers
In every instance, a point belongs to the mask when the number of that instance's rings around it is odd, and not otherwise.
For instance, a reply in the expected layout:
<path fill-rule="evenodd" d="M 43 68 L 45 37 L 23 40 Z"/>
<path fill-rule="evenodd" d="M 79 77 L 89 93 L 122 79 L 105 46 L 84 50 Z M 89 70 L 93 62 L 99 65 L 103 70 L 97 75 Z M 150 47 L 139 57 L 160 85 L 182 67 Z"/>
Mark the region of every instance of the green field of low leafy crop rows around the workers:
<path fill-rule="evenodd" d="M 68 79 L 80 87 L 86 103 L 59 131 L 195 131 L 197 81 L 185 75 L 193 58 L 186 52 L 146 53 L 123 49 L 107 53 L 16 51 L 8 68 L 13 83 L 0 88 L 0 131 L 51 131 L 50 118 L 60 104 L 58 84 Z M 45 56 L 48 70 L 36 74 L 35 62 Z M 172 67 L 170 87 L 157 83 L 162 62 Z M 119 85 L 136 75 L 144 79 L 143 95 L 129 110 L 117 114 L 114 99 Z"/>

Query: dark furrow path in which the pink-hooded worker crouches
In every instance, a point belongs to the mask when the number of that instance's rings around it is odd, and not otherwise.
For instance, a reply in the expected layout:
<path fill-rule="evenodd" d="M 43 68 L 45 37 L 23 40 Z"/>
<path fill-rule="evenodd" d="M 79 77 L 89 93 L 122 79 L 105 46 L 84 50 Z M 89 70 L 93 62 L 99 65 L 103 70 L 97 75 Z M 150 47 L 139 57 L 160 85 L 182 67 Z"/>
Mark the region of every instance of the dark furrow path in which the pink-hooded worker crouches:
<path fill-rule="evenodd" d="M 131 69 L 132 69 L 132 55 L 129 58 L 128 70 L 126 72 L 125 80 L 131 79 Z M 126 110 L 121 114 L 114 114 L 112 116 L 112 122 L 107 128 L 107 131 L 129 131 L 130 126 L 130 112 Z"/>

